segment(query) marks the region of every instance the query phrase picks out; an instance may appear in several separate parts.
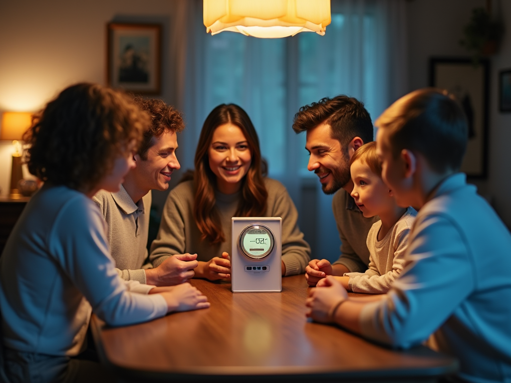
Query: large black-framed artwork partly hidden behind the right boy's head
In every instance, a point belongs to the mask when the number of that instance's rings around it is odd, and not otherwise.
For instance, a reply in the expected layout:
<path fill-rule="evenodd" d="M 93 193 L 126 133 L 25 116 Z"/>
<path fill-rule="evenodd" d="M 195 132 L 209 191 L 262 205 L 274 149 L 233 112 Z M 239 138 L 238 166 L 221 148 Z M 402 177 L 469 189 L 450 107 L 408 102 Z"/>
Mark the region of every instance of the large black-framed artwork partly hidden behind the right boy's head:
<path fill-rule="evenodd" d="M 467 116 L 469 141 L 461 172 L 473 178 L 487 174 L 489 74 L 487 59 L 477 65 L 470 58 L 430 60 L 429 84 L 454 94 Z"/>

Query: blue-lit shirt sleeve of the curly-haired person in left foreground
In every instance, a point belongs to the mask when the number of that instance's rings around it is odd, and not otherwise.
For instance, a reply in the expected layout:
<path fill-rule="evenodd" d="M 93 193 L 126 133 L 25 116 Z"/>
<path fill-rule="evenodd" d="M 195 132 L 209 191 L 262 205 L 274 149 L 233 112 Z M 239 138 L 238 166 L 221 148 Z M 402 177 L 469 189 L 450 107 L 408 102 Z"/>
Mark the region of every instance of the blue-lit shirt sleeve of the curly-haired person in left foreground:
<path fill-rule="evenodd" d="M 50 233 L 50 251 L 99 318 L 127 325 L 162 317 L 167 303 L 159 294 L 128 291 L 109 254 L 105 222 L 94 206 L 70 200 Z"/>

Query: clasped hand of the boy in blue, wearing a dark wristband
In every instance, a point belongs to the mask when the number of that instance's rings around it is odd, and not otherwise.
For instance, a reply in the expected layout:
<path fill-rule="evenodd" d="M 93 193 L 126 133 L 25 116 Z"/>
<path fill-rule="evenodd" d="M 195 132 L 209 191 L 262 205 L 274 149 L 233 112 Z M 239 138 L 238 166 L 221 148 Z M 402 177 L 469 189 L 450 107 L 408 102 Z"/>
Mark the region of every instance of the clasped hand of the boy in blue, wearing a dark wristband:
<path fill-rule="evenodd" d="M 309 292 L 305 305 L 310 310 L 306 315 L 316 322 L 335 322 L 336 310 L 346 299 L 348 299 L 348 293 L 342 284 L 333 276 L 327 276 Z"/>

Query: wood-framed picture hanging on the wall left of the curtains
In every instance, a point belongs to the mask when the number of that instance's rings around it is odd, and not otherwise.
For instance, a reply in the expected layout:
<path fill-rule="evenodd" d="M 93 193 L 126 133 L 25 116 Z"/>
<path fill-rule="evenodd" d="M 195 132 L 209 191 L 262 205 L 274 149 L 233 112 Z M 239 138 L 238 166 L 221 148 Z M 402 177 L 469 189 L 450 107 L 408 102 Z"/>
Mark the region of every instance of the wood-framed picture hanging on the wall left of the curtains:
<path fill-rule="evenodd" d="M 133 93 L 159 94 L 161 26 L 107 25 L 107 84 Z"/>

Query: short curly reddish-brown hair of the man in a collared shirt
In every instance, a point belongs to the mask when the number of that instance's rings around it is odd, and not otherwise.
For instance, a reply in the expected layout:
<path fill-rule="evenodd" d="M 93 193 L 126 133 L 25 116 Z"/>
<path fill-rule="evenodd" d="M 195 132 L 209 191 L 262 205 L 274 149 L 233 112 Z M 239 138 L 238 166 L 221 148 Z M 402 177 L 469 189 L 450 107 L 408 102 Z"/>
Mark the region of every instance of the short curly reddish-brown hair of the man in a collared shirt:
<path fill-rule="evenodd" d="M 133 102 L 151 117 L 151 125 L 144 132 L 137 152 L 143 160 L 147 160 L 147 151 L 154 145 L 153 137 L 159 137 L 168 131 L 180 132 L 184 129 L 184 123 L 181 114 L 163 100 L 135 97 Z"/>

